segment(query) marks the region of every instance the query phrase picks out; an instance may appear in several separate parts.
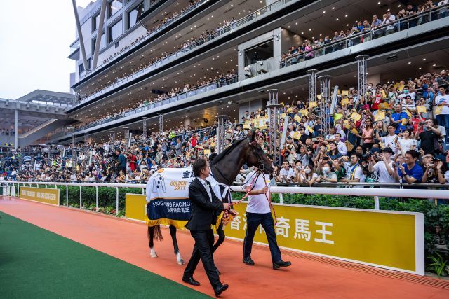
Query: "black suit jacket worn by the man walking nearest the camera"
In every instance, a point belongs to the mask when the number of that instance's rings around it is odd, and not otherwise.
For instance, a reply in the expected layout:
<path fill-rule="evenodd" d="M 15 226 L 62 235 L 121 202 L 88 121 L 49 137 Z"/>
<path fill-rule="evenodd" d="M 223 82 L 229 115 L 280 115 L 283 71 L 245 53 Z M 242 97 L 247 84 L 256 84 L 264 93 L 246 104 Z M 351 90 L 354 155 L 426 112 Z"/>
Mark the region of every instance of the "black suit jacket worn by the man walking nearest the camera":
<path fill-rule="evenodd" d="M 194 179 L 189 186 L 189 200 L 190 200 L 190 219 L 185 227 L 189 230 L 210 230 L 210 225 L 215 224 L 217 215 L 223 211 L 223 203 L 215 196 L 210 184 L 210 195 L 212 195 L 212 202 L 209 200 L 209 195 L 203 184 L 198 178 Z"/>

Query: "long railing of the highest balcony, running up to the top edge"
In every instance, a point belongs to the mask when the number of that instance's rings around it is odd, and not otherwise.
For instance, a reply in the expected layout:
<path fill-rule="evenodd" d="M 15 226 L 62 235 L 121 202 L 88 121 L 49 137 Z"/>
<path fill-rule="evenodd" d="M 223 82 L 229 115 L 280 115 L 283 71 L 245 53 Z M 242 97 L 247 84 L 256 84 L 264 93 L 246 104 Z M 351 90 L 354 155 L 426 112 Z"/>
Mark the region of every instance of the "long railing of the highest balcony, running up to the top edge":
<path fill-rule="evenodd" d="M 202 46 L 203 44 L 207 43 L 208 41 L 217 39 L 224 34 L 232 32 L 232 30 L 234 30 L 238 27 L 241 27 L 250 21 L 256 20 L 257 18 L 260 18 L 262 15 L 274 11 L 275 8 L 280 8 L 281 6 L 283 6 L 283 4 L 286 4 L 290 1 L 293 1 L 293 0 L 279 0 L 279 1 L 274 2 L 273 4 L 270 4 L 269 6 L 260 8 L 257 11 L 255 11 L 254 13 L 251 13 L 250 15 L 247 15 L 246 17 L 243 17 L 243 18 L 237 20 L 233 24 L 230 24 L 228 26 L 220 28 L 220 30 L 213 32 L 209 36 L 206 36 L 205 38 L 200 39 L 199 41 L 196 41 L 195 43 L 192 43 L 189 46 L 182 48 L 181 50 L 177 50 L 175 53 L 168 55 L 167 57 L 164 57 L 163 59 L 161 59 L 157 62 L 154 62 L 153 64 L 150 64 L 149 66 L 147 66 L 143 69 L 140 69 L 139 71 L 136 71 L 135 73 L 131 74 L 130 76 L 127 76 L 126 78 L 116 81 L 115 83 L 112 83 L 112 85 L 108 85 L 107 87 L 103 88 L 102 90 L 98 90 L 97 92 L 94 92 L 93 94 L 88 95 L 87 97 L 83 97 L 81 99 L 81 101 L 79 102 L 79 104 L 88 102 L 91 99 L 98 97 L 99 95 L 102 95 L 109 90 L 113 90 L 114 88 L 116 88 L 119 85 L 123 85 L 124 83 L 126 83 L 128 81 L 134 80 L 135 78 L 138 78 L 138 77 L 142 76 L 143 74 L 147 74 L 149 71 L 152 71 L 154 69 L 157 69 L 157 68 L 163 66 L 163 64 L 166 64 L 173 60 L 177 60 L 177 58 L 184 56 L 189 51 L 194 50 L 194 48 L 198 48 L 198 47 Z"/>

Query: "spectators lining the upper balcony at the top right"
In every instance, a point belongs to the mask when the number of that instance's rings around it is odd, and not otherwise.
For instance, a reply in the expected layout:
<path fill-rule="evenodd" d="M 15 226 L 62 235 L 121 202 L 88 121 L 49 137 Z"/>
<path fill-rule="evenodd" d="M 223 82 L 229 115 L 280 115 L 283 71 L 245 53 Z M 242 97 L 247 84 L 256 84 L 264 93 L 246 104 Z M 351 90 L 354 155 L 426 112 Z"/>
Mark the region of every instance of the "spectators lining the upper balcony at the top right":
<path fill-rule="evenodd" d="M 433 20 L 445 18 L 448 16 L 448 4 L 449 0 L 438 2 L 429 0 L 418 6 L 407 4 L 406 8 L 402 8 L 396 15 L 387 11 L 382 15 L 382 18 L 373 15 L 372 21 L 356 21 L 350 29 L 336 30 L 333 36 L 320 34 L 320 36 L 324 35 L 324 38 L 314 37 L 311 41 L 305 40 L 300 46 L 292 46 L 287 53 L 283 53 L 281 55 L 281 67 L 342 50 L 347 46 L 355 46 L 358 43 L 377 39 L 398 30 L 424 24 L 430 21 L 429 13 L 434 8 L 438 8 L 438 11 L 432 14 Z M 399 20 L 399 22 L 396 22 L 396 20 Z M 396 24 L 394 24 L 395 22 Z M 367 35 L 366 33 L 370 34 Z M 339 43 L 344 39 L 347 39 L 344 44 Z"/>

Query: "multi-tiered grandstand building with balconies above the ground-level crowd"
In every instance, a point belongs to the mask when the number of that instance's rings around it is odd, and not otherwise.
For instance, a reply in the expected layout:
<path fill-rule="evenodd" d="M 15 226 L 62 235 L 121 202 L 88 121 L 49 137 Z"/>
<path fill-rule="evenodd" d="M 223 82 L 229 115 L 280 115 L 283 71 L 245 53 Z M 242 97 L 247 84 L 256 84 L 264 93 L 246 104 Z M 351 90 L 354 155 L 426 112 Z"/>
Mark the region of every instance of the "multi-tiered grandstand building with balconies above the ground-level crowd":
<path fill-rule="evenodd" d="M 402 15 L 409 2 L 416 10 L 423 1 L 97 0 L 78 7 L 69 58 L 79 96 L 65 111 L 76 123 L 51 141 L 207 127 L 222 114 L 241 123 L 246 111 L 266 108 L 273 88 L 279 103 L 316 101 L 311 69 L 340 92 L 365 90 L 361 77 L 375 86 L 448 69 L 448 5 Z M 365 20 L 378 25 L 364 27 Z"/>

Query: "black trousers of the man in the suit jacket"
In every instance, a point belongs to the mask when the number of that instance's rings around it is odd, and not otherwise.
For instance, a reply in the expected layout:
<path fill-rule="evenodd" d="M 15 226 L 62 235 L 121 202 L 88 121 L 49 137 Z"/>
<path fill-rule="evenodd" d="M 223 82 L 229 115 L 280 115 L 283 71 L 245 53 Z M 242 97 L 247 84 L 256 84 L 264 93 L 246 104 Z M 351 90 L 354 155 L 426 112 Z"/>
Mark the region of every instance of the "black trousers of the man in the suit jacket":
<path fill-rule="evenodd" d="M 215 272 L 215 264 L 213 263 L 213 230 L 191 230 L 190 235 L 195 240 L 194 251 L 190 257 L 189 263 L 184 270 L 184 277 L 193 277 L 196 266 L 201 258 L 204 270 L 208 275 L 208 279 L 213 289 L 222 285 L 217 272 Z"/>

